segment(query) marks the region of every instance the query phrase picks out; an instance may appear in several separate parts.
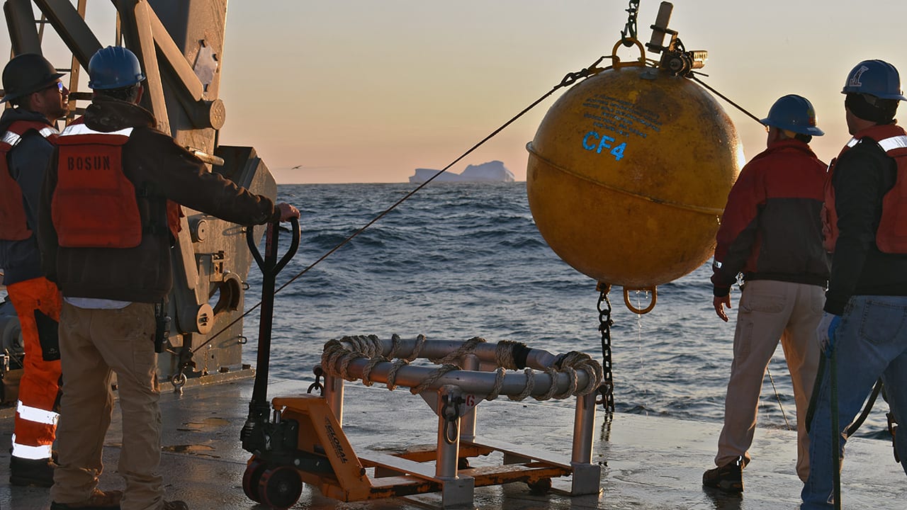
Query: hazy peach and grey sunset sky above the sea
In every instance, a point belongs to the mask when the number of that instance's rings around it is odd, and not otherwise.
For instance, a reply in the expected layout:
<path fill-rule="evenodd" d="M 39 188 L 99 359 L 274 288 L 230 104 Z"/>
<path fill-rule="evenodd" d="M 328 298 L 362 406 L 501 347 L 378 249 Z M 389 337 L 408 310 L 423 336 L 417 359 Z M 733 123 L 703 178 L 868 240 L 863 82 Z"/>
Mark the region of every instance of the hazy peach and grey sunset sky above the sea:
<path fill-rule="evenodd" d="M 643 43 L 659 4 L 640 2 Z M 813 147 L 826 162 L 848 138 L 840 92 L 853 65 L 880 58 L 907 78 L 904 0 L 673 4 L 669 27 L 688 50 L 708 51 L 703 81 L 760 118 L 787 93 L 813 102 L 827 133 Z M 443 168 L 564 74 L 610 54 L 627 7 L 614 0 L 234 0 L 221 55 L 227 124 L 220 140 L 254 146 L 282 183 L 405 181 L 417 167 Z M 5 34 L 2 44 L 8 54 Z M 451 170 L 502 160 L 525 180 L 525 144 L 558 95 Z M 764 128 L 719 102 L 747 159 L 762 151 Z M 907 106 L 902 117 L 907 122 Z"/>

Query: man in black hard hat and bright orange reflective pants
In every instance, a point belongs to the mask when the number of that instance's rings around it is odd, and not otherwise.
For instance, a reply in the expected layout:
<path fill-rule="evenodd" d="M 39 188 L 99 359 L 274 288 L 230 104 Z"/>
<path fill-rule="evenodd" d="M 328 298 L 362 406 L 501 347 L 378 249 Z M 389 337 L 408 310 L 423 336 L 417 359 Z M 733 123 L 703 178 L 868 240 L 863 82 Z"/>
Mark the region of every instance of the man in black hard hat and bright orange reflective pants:
<path fill-rule="evenodd" d="M 60 294 L 42 276 L 35 231 L 44 171 L 57 135 L 54 121 L 67 113 L 69 91 L 61 76 L 40 54 L 20 54 L 3 70 L 3 102 L 15 108 L 0 117 L 0 267 L 24 340 L 10 457 L 13 485 L 54 484 Z"/>

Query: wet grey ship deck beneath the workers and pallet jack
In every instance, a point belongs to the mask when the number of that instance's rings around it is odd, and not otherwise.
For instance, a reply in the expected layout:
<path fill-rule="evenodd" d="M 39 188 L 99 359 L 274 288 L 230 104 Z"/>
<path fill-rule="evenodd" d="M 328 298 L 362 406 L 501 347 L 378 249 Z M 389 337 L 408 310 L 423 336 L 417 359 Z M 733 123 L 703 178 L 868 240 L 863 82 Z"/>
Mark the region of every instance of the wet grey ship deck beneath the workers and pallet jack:
<path fill-rule="evenodd" d="M 308 383 L 272 381 L 268 395 L 293 396 Z M 216 385 L 184 388 L 183 394 L 162 387 L 164 434 L 161 472 L 168 499 L 182 499 L 191 510 L 264 509 L 242 490 L 249 454 L 239 444 L 239 429 L 248 414 L 251 378 Z M 503 401 L 502 401 L 503 400 Z M 478 407 L 478 438 L 503 440 L 530 451 L 571 456 L 573 409 L 571 401 L 511 402 L 498 399 Z M 701 476 L 712 466 L 720 426 L 668 417 L 617 414 L 605 420 L 598 412 L 592 460 L 602 466 L 599 495 L 571 496 L 569 477 L 553 480 L 546 494 L 532 494 L 527 485 L 511 483 L 477 487 L 474 507 L 516 509 L 790 509 L 799 507 L 802 484 L 796 477 L 795 433 L 757 429 L 750 450 L 753 462 L 744 473 L 741 496 L 704 489 Z M 106 470 L 102 488 L 122 488 L 116 475 L 122 424 L 119 408 L 104 448 Z M 422 398 L 405 389 L 346 384 L 344 432 L 356 454 L 387 452 L 414 444 L 436 442 L 437 418 Z M 9 444 L 13 410 L 0 412 L 0 436 Z M 15 487 L 8 483 L 9 454 L 0 458 L 0 508 L 45 509 L 47 489 Z M 494 454 L 493 454 L 494 455 Z M 476 462 L 500 464 L 501 459 L 479 457 Z M 902 509 L 907 484 L 901 466 L 894 463 L 891 443 L 853 438 L 844 464 L 844 508 Z M 424 509 L 440 508 L 439 493 L 342 503 L 306 485 L 294 508 L 310 509 Z"/>

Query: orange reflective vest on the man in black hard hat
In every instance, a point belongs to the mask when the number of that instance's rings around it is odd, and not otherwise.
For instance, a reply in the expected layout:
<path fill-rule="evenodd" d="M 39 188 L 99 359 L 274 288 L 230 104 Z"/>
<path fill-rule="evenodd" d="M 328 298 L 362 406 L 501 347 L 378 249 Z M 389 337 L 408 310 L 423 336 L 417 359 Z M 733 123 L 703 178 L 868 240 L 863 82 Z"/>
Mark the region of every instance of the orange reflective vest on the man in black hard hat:
<path fill-rule="evenodd" d="M 9 174 L 9 152 L 26 132 L 34 130 L 50 142 L 57 137 L 57 130 L 37 121 L 16 121 L 10 124 L 0 140 L 0 240 L 25 240 L 32 236 L 25 216 L 22 188 Z"/>

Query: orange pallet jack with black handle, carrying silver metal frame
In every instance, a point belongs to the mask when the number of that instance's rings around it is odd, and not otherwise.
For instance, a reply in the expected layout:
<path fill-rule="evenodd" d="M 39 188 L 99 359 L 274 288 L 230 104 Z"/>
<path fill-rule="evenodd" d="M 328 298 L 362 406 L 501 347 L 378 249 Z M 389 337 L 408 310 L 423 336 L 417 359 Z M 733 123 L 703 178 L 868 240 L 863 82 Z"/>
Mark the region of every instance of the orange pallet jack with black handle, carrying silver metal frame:
<path fill-rule="evenodd" d="M 274 280 L 297 249 L 298 226 L 294 224 L 292 247 L 279 262 L 276 226 L 269 225 L 267 235 L 264 259 L 249 237 L 249 247 L 264 275 L 258 369 L 249 402 L 249 417 L 240 433 L 243 448 L 252 454 L 242 480 L 243 490 L 249 499 L 271 508 L 289 508 L 296 504 L 302 493 L 302 484 L 306 483 L 317 487 L 323 495 L 345 502 L 440 492 L 442 503 L 447 507 L 472 505 L 473 489 L 478 486 L 524 482 L 533 491 L 543 492 L 551 488 L 551 478 L 559 476 L 572 476 L 572 495 L 598 494 L 600 466 L 590 462 L 594 392 L 577 397 L 571 460 L 545 452 L 526 452 L 522 446 L 503 442 L 475 440 L 475 407 L 489 394 L 489 378 L 496 377 L 493 373 L 455 370 L 434 378 L 431 387 L 419 393 L 438 416 L 437 446 L 412 447 L 395 455 L 368 452 L 366 456 L 356 456 L 342 427 L 344 379 L 336 377 L 332 367 L 326 367 L 324 358 L 322 367 L 316 372 L 317 375 L 325 375 L 322 387 L 324 397 L 276 397 L 268 405 Z M 395 343 L 398 340 L 394 338 Z M 366 378 L 383 379 L 385 382 L 389 375 L 391 378 L 396 375 L 401 385 L 413 388 L 424 383 L 424 370 L 427 368 L 393 368 L 390 362 L 370 361 L 358 352 L 356 342 L 332 342 L 350 349 L 348 366 L 360 377 L 365 371 Z M 522 344 L 513 349 L 521 353 L 523 360 L 551 358 L 544 351 L 520 346 Z M 449 349 L 450 345 L 440 348 Z M 483 346 L 483 352 L 492 349 L 495 347 Z M 479 358 L 474 355 L 463 357 L 463 366 L 479 368 Z M 598 387 L 596 381 L 600 379 L 587 378 L 584 372 L 581 376 L 586 386 L 594 384 Z M 515 379 L 510 377 L 508 380 Z M 447 384 L 449 381 L 458 384 Z M 556 382 L 551 376 L 550 393 L 553 393 Z M 512 386 L 512 383 L 503 382 L 494 391 L 506 385 Z M 575 390 L 576 386 L 574 383 L 572 389 Z M 316 382 L 312 387 L 321 385 Z M 512 387 L 504 389 L 505 392 L 512 391 Z M 540 385 L 535 391 L 540 394 L 546 388 Z M 502 466 L 470 466 L 470 458 L 488 456 L 493 452 L 503 454 Z"/>

